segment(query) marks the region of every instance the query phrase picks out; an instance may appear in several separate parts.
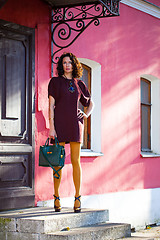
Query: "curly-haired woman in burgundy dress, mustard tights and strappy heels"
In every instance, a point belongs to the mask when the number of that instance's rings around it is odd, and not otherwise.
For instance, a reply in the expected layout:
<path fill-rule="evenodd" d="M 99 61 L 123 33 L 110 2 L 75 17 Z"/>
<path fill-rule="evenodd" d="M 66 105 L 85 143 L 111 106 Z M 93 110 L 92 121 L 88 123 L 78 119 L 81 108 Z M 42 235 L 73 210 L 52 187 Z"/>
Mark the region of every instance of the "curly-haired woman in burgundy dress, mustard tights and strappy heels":
<path fill-rule="evenodd" d="M 53 77 L 48 85 L 49 96 L 49 137 L 58 138 L 60 145 L 70 143 L 73 182 L 75 186 L 74 212 L 81 211 L 81 165 L 80 150 L 83 141 L 83 118 L 88 118 L 93 110 L 93 101 L 83 81 L 82 66 L 75 55 L 64 53 L 57 64 L 58 77 Z M 87 107 L 86 113 L 78 109 L 78 102 Z M 54 178 L 54 208 L 61 211 L 59 186 L 60 178 Z"/>

